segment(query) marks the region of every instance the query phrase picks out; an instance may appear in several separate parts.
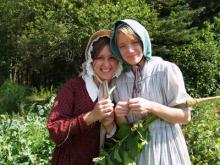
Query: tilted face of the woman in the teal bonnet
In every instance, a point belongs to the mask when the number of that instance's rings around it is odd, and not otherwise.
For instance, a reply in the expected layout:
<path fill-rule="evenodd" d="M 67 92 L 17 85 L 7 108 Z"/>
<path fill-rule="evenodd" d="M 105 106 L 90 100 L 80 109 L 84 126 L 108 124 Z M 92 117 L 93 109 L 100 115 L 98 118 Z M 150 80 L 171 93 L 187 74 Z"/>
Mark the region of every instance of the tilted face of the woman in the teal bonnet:
<path fill-rule="evenodd" d="M 142 46 L 135 34 L 125 34 L 121 31 L 117 33 L 116 44 L 122 58 L 131 65 L 138 64 L 142 57 Z"/>

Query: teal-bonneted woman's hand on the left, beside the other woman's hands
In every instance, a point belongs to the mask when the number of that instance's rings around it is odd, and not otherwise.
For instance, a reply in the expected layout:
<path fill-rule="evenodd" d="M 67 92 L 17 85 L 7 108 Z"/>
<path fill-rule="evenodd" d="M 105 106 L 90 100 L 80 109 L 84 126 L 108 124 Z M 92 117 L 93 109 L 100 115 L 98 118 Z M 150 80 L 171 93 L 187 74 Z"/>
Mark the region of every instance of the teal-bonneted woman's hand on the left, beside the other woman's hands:
<path fill-rule="evenodd" d="M 124 117 L 128 115 L 128 113 L 129 113 L 128 102 L 119 101 L 115 107 L 115 115 L 117 117 Z"/>

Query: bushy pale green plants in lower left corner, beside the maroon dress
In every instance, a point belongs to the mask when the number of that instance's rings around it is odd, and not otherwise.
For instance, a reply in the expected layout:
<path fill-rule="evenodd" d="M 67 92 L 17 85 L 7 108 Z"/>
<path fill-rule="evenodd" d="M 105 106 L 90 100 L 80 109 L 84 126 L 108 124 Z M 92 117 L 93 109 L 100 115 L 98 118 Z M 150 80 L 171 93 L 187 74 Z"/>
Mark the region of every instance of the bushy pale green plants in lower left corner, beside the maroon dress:
<path fill-rule="evenodd" d="M 51 103 L 41 107 L 48 108 Z M 0 115 L 0 164 L 49 164 L 54 146 L 46 121 L 47 117 L 36 113 Z"/>

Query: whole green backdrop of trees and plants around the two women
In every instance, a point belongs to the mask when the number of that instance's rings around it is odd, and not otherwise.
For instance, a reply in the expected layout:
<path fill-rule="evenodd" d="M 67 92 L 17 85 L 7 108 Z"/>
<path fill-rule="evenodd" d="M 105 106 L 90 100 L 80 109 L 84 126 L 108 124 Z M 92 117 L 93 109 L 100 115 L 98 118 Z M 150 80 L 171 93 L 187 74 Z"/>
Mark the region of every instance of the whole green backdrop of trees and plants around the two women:
<path fill-rule="evenodd" d="M 191 96 L 220 94 L 216 0 L 1 0 L 0 164 L 48 164 L 45 122 L 57 91 L 81 72 L 90 35 L 124 18 L 146 27 L 153 55 L 180 67 Z M 198 107 L 184 128 L 193 164 L 220 161 L 219 105 Z"/>

